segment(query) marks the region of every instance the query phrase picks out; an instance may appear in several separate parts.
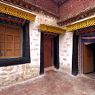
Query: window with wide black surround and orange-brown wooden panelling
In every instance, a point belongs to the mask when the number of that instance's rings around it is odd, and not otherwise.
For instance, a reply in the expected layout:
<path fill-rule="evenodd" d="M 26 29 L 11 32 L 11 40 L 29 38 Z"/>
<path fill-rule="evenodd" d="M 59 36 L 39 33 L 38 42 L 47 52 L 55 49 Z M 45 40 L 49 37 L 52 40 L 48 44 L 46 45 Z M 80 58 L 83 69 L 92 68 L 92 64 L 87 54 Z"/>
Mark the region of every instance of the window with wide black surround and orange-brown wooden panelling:
<path fill-rule="evenodd" d="M 0 23 L 0 67 L 30 63 L 29 21 Z"/>

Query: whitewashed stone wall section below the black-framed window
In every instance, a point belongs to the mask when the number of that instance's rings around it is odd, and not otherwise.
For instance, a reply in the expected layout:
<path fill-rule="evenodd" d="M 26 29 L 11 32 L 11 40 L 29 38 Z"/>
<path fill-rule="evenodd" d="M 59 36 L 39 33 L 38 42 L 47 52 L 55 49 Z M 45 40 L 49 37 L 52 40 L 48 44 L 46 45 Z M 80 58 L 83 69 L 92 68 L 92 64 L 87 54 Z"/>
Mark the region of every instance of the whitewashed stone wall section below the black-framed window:
<path fill-rule="evenodd" d="M 15 84 L 39 75 L 39 69 L 32 64 L 0 67 L 0 87 Z"/>

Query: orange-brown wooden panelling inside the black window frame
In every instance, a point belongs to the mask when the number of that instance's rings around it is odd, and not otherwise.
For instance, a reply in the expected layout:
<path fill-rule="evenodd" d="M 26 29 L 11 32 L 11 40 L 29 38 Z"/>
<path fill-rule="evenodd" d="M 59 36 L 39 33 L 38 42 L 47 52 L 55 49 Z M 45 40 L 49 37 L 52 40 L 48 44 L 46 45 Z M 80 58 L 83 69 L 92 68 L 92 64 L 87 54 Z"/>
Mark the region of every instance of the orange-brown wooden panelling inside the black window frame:
<path fill-rule="evenodd" d="M 21 27 L 0 24 L 0 58 L 22 56 Z"/>

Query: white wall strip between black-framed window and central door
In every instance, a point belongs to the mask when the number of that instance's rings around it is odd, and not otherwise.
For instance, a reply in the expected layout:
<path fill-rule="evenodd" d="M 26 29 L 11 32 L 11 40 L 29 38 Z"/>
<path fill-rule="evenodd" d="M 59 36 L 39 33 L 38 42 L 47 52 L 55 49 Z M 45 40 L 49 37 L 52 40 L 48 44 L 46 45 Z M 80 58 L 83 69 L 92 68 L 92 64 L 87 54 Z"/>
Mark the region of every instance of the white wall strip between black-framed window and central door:
<path fill-rule="evenodd" d="M 38 30 L 38 24 L 30 22 L 30 56 L 32 66 L 40 69 L 40 39 L 41 32 Z"/>

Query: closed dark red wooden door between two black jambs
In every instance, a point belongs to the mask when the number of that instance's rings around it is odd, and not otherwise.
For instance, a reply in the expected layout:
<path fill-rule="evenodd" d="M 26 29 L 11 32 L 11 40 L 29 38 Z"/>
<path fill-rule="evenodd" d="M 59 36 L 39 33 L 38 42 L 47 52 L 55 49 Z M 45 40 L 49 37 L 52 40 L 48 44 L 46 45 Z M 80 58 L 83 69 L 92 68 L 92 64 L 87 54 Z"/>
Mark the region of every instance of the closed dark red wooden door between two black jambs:
<path fill-rule="evenodd" d="M 50 35 L 44 36 L 44 67 L 53 66 L 54 62 L 54 38 Z"/>

